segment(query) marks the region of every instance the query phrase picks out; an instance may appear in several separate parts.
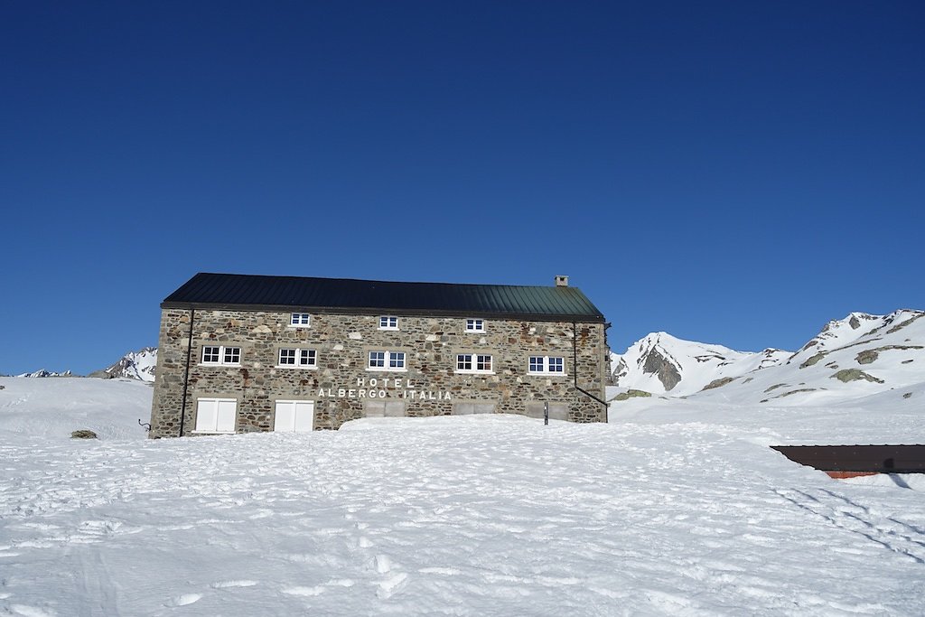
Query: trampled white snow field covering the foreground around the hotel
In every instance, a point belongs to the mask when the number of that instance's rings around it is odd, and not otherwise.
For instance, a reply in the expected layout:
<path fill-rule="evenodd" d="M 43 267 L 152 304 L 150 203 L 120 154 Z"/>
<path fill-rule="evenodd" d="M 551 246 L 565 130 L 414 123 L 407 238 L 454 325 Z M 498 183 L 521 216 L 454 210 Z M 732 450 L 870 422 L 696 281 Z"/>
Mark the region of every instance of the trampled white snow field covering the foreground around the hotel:
<path fill-rule="evenodd" d="M 0 614 L 925 614 L 919 478 L 768 448 L 922 442 L 892 399 L 152 441 L 143 384 L 0 385 Z"/>

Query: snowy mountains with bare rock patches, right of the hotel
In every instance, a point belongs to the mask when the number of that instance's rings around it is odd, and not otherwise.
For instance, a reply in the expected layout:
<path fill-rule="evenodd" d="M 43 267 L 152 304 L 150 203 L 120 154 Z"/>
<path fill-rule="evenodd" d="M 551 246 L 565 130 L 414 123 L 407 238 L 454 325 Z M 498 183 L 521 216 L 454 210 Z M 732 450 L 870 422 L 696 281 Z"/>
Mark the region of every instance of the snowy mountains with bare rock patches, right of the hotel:
<path fill-rule="evenodd" d="M 613 383 L 672 397 L 792 404 L 847 401 L 925 381 L 925 311 L 852 313 L 798 352 L 736 352 L 664 332 L 612 354 Z"/>

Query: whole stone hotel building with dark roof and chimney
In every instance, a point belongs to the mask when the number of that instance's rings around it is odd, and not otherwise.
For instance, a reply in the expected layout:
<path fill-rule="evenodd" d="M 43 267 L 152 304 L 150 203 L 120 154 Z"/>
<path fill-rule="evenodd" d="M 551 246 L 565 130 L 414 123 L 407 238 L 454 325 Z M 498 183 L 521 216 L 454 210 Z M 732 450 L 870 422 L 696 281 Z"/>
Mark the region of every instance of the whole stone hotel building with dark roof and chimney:
<path fill-rule="evenodd" d="M 152 438 L 371 416 L 606 421 L 604 316 L 549 287 L 200 273 L 161 304 Z"/>

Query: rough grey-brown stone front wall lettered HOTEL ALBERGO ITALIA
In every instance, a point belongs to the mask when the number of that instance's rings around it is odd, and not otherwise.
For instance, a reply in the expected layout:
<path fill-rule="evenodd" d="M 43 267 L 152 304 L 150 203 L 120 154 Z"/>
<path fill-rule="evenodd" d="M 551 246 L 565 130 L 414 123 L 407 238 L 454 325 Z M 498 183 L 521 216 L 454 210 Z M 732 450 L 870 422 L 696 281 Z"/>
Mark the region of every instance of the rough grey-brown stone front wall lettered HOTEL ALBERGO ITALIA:
<path fill-rule="evenodd" d="M 180 434 L 190 322 L 188 309 L 162 311 L 152 438 Z M 410 416 L 478 402 L 525 414 L 529 403 L 549 401 L 566 405 L 573 422 L 606 420 L 604 406 L 574 388 L 577 370 L 578 386 L 604 399 L 608 350 L 600 323 L 485 319 L 485 332 L 472 333 L 462 317 L 399 315 L 399 330 L 382 330 L 378 315 L 312 314 L 310 327 L 291 327 L 290 313 L 203 309 L 193 322 L 184 435 L 196 426 L 199 398 L 235 399 L 237 432 L 272 430 L 277 400 L 314 401 L 315 428 L 364 417 L 364 401 L 382 397 L 405 401 Z M 205 345 L 240 347 L 240 365 L 203 365 Z M 277 366 L 280 347 L 316 350 L 316 368 Z M 406 370 L 367 369 L 371 350 L 405 352 Z M 456 354 L 467 352 L 490 353 L 493 374 L 455 372 Z M 565 375 L 528 375 L 531 355 L 563 357 Z"/>

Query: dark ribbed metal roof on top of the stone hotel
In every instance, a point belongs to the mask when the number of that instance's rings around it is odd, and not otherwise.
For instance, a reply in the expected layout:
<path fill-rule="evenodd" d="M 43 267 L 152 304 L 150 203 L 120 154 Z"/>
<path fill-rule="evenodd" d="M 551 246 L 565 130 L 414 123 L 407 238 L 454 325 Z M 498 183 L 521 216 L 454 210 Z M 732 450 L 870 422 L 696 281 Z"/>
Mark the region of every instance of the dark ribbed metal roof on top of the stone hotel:
<path fill-rule="evenodd" d="M 200 272 L 167 296 L 161 306 L 604 321 L 598 308 L 574 287 L 401 283 L 206 272 Z"/>

